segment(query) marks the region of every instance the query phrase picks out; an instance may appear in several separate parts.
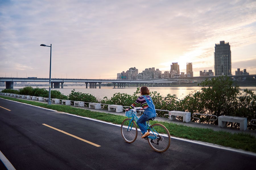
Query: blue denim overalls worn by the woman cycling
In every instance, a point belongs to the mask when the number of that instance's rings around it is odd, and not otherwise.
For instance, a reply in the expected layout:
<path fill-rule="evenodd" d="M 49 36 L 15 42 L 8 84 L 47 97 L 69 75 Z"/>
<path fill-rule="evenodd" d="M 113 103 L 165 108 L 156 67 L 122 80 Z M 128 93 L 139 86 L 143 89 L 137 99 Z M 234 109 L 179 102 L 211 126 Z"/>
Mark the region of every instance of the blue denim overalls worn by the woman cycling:
<path fill-rule="evenodd" d="M 143 95 L 143 97 L 148 104 L 148 108 L 145 109 L 144 114 L 137 120 L 137 125 L 141 129 L 141 132 L 144 134 L 147 131 L 147 129 L 145 128 L 147 125 L 146 121 L 148 121 L 150 118 L 156 117 L 156 110 L 155 110 L 155 105 L 152 101 L 152 98 L 149 96 L 150 99 L 148 99 L 144 95 Z M 143 126 L 143 124 L 144 124 L 144 126 Z"/>

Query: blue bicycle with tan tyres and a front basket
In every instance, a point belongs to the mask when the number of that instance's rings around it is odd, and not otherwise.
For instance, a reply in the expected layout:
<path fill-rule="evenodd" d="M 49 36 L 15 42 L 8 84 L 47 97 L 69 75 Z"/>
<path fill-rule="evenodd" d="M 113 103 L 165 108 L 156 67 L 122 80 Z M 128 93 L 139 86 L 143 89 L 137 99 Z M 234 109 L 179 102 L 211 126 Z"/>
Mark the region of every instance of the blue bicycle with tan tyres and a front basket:
<path fill-rule="evenodd" d="M 121 125 L 121 134 L 123 139 L 127 143 L 133 143 L 138 135 L 138 127 L 137 120 L 139 119 L 136 115 L 137 111 L 141 111 L 141 107 L 135 107 L 129 111 L 125 112 L 126 118 L 123 120 Z M 151 118 L 150 120 L 154 120 L 155 118 Z M 156 152 L 164 152 L 166 151 L 171 143 L 171 136 L 168 129 L 159 123 L 150 125 L 149 120 L 146 123 L 146 129 L 150 132 L 150 135 L 145 137 L 150 145 L 150 147 Z"/>

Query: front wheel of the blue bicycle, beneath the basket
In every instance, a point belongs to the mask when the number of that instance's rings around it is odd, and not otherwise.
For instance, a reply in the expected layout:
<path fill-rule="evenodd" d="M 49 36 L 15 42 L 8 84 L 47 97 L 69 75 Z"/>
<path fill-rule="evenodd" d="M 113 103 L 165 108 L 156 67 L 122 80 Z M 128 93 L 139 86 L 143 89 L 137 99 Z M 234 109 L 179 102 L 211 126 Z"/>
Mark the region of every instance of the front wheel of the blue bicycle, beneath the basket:
<path fill-rule="evenodd" d="M 138 135 L 137 125 L 133 120 L 126 118 L 121 125 L 121 133 L 126 142 L 133 143 Z"/>

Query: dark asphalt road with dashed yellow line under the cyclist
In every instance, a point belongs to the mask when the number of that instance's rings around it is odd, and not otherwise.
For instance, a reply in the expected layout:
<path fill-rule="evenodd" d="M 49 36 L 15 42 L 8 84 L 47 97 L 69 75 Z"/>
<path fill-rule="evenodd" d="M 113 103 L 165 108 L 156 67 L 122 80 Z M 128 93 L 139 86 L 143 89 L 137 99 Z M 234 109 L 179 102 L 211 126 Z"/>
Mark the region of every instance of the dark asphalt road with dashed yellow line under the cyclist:
<path fill-rule="evenodd" d="M 256 162 L 256 154 L 176 138 L 158 153 L 139 137 L 126 143 L 120 126 L 1 98 L 0 151 L 17 170 L 251 169 Z"/>

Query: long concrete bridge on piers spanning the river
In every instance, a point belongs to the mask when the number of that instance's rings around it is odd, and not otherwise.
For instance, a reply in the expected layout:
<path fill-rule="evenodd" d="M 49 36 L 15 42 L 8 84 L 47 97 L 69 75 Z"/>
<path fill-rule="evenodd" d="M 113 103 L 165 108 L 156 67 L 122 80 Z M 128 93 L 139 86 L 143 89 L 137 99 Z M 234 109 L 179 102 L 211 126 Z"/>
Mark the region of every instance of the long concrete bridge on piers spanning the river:
<path fill-rule="evenodd" d="M 116 79 L 69 79 L 69 78 L 51 78 L 51 88 L 63 88 L 64 82 L 69 83 L 85 83 L 86 88 L 97 88 L 97 83 L 99 88 L 101 88 L 102 83 L 113 83 L 114 88 L 117 84 L 117 87 L 125 87 L 128 84 L 138 84 L 143 86 L 153 86 L 153 84 L 171 84 L 173 82 L 202 82 L 207 78 L 214 78 L 218 76 L 197 76 L 197 77 L 177 77 L 177 78 L 165 78 L 165 79 L 147 79 L 147 80 L 116 80 Z M 239 77 L 253 77 L 256 75 L 229 75 L 228 77 L 233 78 L 233 80 L 238 79 Z M 28 77 L 28 78 L 14 78 L 14 77 L 0 77 L 0 82 L 6 82 L 7 89 L 13 89 L 13 82 L 49 82 L 49 78 L 37 78 L 37 77 Z M 60 86 L 61 84 L 61 86 Z M 49 84 L 50 86 L 50 84 Z"/>

